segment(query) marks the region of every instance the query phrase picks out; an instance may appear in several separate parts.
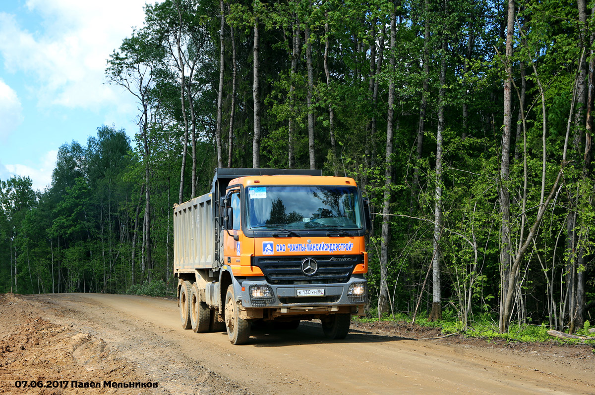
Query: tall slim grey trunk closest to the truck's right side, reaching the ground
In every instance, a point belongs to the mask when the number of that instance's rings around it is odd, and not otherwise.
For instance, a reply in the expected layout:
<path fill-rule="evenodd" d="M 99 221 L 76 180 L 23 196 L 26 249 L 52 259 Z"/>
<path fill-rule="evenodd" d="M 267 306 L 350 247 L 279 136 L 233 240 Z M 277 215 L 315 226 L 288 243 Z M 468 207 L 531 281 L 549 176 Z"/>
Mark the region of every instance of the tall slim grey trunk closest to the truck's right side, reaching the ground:
<path fill-rule="evenodd" d="M 388 265 L 389 265 L 389 215 L 390 187 L 393 176 L 393 125 L 394 125 L 394 46 L 396 41 L 396 4 L 390 18 L 390 68 L 389 68 L 389 110 L 386 127 L 386 159 L 384 162 L 384 195 L 382 204 L 382 230 L 380 243 L 380 295 L 378 295 L 378 315 L 389 311 Z"/>

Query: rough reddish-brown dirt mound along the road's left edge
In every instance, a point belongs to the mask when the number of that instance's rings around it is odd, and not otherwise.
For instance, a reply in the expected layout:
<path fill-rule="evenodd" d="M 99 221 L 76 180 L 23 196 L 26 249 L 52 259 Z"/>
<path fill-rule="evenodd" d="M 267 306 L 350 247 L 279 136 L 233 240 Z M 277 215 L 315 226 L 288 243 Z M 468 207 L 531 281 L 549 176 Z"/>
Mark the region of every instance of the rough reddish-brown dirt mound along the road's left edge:
<path fill-rule="evenodd" d="M 89 387 L 84 386 L 95 383 L 99 383 L 93 388 L 96 393 L 152 393 L 148 388 L 106 388 L 104 381 L 145 383 L 146 379 L 104 340 L 53 324 L 36 312 L 17 296 L 0 296 L 0 327 L 10 330 L 0 338 L 0 394 L 88 394 Z"/>

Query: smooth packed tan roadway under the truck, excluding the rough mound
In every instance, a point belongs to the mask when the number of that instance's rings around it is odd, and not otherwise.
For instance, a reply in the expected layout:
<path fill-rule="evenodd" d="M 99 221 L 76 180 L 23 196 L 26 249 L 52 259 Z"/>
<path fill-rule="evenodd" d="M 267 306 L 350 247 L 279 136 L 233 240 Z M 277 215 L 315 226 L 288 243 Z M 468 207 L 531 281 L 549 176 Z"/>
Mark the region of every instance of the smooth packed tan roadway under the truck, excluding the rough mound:
<path fill-rule="evenodd" d="M 244 346 L 225 333 L 182 330 L 176 301 L 130 295 L 20 296 L 45 320 L 102 339 L 131 368 L 171 393 L 592 394 L 594 359 L 458 347 L 353 330 L 329 341 L 320 326 L 254 330 Z M 0 336 L 1 336 L 0 332 Z M 218 392 L 220 391 L 220 392 Z"/>

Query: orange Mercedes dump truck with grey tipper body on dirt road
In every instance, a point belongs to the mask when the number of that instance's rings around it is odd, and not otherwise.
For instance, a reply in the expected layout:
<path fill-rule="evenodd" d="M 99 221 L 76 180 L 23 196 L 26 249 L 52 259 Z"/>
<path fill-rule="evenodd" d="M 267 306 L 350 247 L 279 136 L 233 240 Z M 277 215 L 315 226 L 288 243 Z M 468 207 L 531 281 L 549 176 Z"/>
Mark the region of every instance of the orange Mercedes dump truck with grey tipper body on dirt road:
<path fill-rule="evenodd" d="M 217 168 L 211 192 L 174 206 L 181 326 L 225 331 L 320 320 L 344 339 L 368 301 L 368 200 L 321 170 Z"/>

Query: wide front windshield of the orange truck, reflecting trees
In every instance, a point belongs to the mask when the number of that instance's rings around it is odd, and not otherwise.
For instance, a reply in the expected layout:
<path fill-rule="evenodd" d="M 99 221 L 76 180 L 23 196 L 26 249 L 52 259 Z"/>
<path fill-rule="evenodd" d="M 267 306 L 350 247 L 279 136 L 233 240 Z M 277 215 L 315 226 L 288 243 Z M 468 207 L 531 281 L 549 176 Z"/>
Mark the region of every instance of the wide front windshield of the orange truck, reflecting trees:
<path fill-rule="evenodd" d="M 292 185 L 246 188 L 248 229 L 361 229 L 355 187 Z"/>

